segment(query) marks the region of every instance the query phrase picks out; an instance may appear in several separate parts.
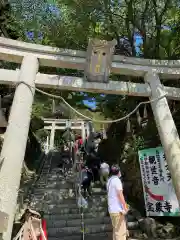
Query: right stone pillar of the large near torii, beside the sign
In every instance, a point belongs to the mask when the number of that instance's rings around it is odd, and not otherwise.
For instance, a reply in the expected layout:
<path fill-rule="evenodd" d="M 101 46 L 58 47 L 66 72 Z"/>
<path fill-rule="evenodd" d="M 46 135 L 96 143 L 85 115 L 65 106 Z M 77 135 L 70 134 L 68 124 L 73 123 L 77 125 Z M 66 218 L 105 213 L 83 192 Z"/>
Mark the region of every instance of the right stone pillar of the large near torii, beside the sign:
<path fill-rule="evenodd" d="M 152 90 L 151 100 L 165 95 L 159 76 L 153 72 L 145 75 Z M 166 155 L 173 185 L 180 204 L 180 139 L 166 97 L 151 103 L 160 139 Z"/>

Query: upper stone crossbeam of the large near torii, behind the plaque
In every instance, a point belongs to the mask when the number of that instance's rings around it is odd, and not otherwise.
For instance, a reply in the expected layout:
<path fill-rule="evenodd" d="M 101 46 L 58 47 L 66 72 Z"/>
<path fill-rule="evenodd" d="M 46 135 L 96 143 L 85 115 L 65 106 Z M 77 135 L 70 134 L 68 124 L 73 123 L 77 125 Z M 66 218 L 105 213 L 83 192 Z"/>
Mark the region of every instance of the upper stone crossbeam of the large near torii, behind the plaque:
<path fill-rule="evenodd" d="M 0 37 L 0 59 L 21 63 L 24 56 L 33 54 L 40 66 L 84 70 L 86 52 L 72 49 L 57 49 L 39 44 L 25 43 Z M 144 76 L 154 71 L 163 78 L 179 78 L 179 60 L 154 60 L 126 56 L 113 56 L 113 73 L 131 76 Z"/>

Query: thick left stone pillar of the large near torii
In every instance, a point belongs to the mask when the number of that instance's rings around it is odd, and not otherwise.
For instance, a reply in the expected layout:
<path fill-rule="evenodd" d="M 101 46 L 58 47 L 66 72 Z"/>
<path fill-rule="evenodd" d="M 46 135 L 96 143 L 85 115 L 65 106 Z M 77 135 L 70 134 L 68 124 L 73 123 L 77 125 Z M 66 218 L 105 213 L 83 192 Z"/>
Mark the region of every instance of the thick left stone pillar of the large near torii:
<path fill-rule="evenodd" d="M 4 229 L 1 229 L 2 235 L 0 233 L 0 239 L 3 240 L 11 239 L 38 66 L 38 59 L 33 55 L 25 56 L 22 61 L 19 82 L 24 81 L 33 88 L 23 83 L 16 88 L 0 155 L 3 161 L 0 169 L 0 223 L 3 222 L 3 216 L 7 216 Z"/>

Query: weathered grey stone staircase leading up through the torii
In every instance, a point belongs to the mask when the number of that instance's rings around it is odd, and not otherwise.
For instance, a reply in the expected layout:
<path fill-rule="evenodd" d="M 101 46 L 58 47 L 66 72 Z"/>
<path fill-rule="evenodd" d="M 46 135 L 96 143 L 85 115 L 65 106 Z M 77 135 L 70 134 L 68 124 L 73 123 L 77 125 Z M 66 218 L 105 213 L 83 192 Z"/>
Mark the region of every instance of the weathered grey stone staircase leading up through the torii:
<path fill-rule="evenodd" d="M 47 221 L 48 240 L 80 240 L 82 238 L 81 214 L 77 206 L 72 173 L 65 179 L 60 172 L 58 155 L 50 156 L 31 194 L 31 208 L 43 211 Z M 107 214 L 106 193 L 93 187 L 93 196 L 84 210 L 85 240 L 112 239 L 112 227 Z M 143 238 L 138 221 L 127 215 L 130 237 Z"/>

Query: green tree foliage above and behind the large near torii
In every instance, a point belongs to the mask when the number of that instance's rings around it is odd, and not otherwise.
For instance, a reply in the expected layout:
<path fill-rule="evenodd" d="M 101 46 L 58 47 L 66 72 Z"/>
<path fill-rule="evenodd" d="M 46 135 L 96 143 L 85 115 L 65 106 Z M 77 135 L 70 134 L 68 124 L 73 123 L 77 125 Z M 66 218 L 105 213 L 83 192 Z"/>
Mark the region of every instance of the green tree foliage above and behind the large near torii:
<path fill-rule="evenodd" d="M 144 58 L 178 59 L 180 57 L 180 9 L 176 0 L 54 0 L 47 2 L 35 0 L 33 4 L 29 0 L 11 0 L 10 3 L 11 8 L 4 12 L 3 19 L 7 21 L 7 32 L 10 32 L 9 29 L 12 30 L 16 39 L 61 48 L 85 50 L 89 38 L 98 37 L 107 40 L 115 38 L 118 42 L 118 54 L 124 54 L 124 51 L 129 48 L 132 55 Z M 56 6 L 59 9 L 58 13 L 49 11 L 48 4 Z M 27 38 L 27 31 L 34 32 L 33 40 Z M 43 33 L 43 38 L 39 38 L 39 33 Z M 142 38 L 138 53 L 135 41 L 137 35 Z M 122 43 L 122 39 L 126 39 L 128 44 Z M 40 71 L 83 76 L 83 72 L 70 69 L 41 68 Z M 116 81 L 142 81 L 138 78 L 132 79 L 116 75 L 112 75 L 111 78 Z M 173 82 L 172 86 L 175 84 Z M 80 112 L 98 120 L 123 117 L 144 100 L 127 96 L 60 92 L 54 89 L 49 92 L 63 96 Z M 96 112 L 88 110 L 87 106 L 82 103 L 83 99 L 92 97 L 97 102 Z M 61 101 L 57 100 L 56 105 L 62 106 Z M 178 109 L 179 105 L 177 104 L 175 112 L 178 112 Z M 36 94 L 32 116 L 37 127 L 34 126 L 34 129 L 41 129 L 41 122 L 38 119 L 51 115 L 51 112 L 52 100 L 47 96 Z M 70 110 L 66 110 L 66 114 L 77 117 Z M 151 120 L 144 129 L 139 126 L 136 114 L 130 118 L 132 139 L 136 146 L 132 147 L 134 151 L 142 148 L 147 142 L 150 144 L 149 139 L 147 140 L 150 131 L 153 138 L 157 139 L 157 141 L 154 139 L 153 141 L 159 142 L 157 129 L 152 121 L 151 109 L 148 110 L 148 115 Z M 150 122 L 153 122 L 153 125 Z M 119 124 L 124 127 L 122 122 Z M 101 124 L 96 124 L 96 127 L 101 128 Z M 42 130 L 38 131 L 41 136 L 44 136 Z"/>

